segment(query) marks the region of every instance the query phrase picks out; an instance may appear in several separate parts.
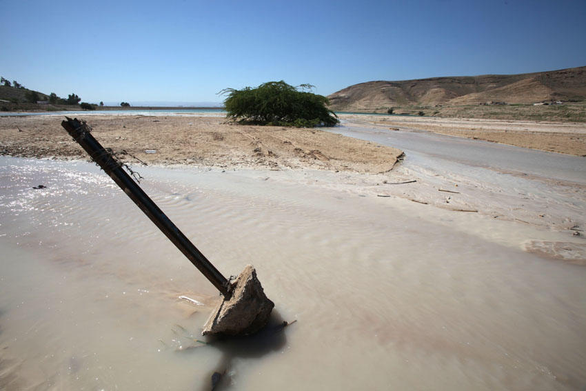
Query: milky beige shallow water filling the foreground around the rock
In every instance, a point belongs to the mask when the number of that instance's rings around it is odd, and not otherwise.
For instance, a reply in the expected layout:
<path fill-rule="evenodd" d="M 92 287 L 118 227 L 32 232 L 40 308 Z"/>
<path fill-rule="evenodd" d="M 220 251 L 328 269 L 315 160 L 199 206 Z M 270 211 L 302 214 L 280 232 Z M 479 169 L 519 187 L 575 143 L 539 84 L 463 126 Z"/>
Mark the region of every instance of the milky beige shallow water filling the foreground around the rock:
<path fill-rule="evenodd" d="M 333 173 L 137 170 L 216 268 L 254 264 L 275 321 L 296 322 L 200 342 L 217 292 L 109 177 L 0 157 L 0 389 L 210 390 L 214 372 L 234 390 L 586 387 L 586 268 L 498 239 L 509 222 Z"/>

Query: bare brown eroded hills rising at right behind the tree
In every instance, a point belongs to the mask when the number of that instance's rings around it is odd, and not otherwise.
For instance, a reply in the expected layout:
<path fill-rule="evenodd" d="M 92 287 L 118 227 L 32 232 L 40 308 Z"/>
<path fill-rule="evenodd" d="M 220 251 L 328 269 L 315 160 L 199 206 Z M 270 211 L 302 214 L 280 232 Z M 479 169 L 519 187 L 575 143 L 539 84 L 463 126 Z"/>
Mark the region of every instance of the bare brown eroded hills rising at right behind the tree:
<path fill-rule="evenodd" d="M 536 103 L 586 99 L 586 66 L 525 74 L 432 77 L 368 81 L 328 96 L 336 111 L 382 110 L 394 106 L 463 106 L 488 101 Z"/>

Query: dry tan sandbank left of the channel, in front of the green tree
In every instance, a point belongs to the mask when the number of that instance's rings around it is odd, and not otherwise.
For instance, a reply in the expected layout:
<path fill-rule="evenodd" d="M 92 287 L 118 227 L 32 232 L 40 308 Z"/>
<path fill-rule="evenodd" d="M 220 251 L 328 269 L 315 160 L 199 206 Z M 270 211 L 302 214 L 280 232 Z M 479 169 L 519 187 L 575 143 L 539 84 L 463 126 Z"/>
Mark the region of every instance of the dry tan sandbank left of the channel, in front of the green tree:
<path fill-rule="evenodd" d="M 0 154 L 88 159 L 61 127 L 62 120 L 44 115 L 0 117 Z M 88 116 L 85 120 L 105 148 L 129 162 L 134 156 L 155 164 L 378 173 L 391 170 L 403 153 L 321 130 L 240 126 L 224 123 L 221 117 Z"/>

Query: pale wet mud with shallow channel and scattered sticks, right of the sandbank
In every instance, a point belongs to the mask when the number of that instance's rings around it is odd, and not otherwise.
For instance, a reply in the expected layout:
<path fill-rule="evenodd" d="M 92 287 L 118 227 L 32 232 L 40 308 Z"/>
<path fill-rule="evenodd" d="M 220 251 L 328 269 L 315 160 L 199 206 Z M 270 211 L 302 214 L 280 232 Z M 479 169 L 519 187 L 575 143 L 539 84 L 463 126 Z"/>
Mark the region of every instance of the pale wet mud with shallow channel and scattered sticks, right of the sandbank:
<path fill-rule="evenodd" d="M 330 131 L 405 151 L 401 164 L 392 170 L 392 180 L 370 176 L 372 190 L 381 197 L 400 197 L 583 238 L 583 157 L 364 123 L 349 122 Z M 582 259 L 586 259 L 585 250 Z"/>

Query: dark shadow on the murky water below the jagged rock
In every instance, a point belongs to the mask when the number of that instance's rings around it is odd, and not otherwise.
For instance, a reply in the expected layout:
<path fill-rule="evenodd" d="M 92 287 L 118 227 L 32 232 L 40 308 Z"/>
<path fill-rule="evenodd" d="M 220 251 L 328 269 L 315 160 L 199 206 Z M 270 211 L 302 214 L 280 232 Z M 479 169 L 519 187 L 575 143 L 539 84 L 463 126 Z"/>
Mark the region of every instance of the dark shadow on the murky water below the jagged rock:
<path fill-rule="evenodd" d="M 231 389 L 232 378 L 236 375 L 232 370 L 234 359 L 259 359 L 281 350 L 286 342 L 285 331 L 288 325 L 276 310 L 272 311 L 269 323 L 261 331 L 247 337 L 210 337 L 201 348 L 216 349 L 222 353 L 216 368 L 199 390 L 220 391 Z M 185 354 L 196 354 L 196 350 L 185 351 Z"/>

